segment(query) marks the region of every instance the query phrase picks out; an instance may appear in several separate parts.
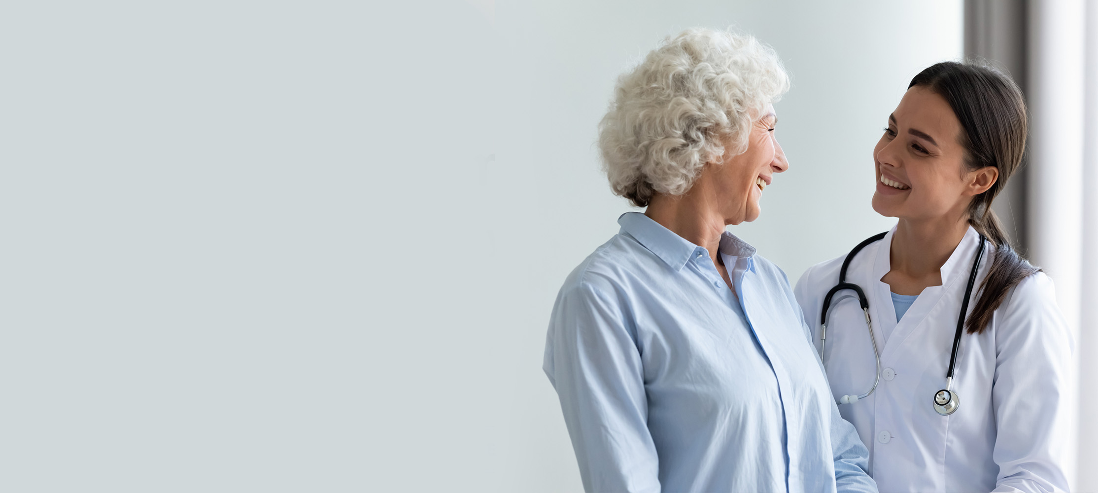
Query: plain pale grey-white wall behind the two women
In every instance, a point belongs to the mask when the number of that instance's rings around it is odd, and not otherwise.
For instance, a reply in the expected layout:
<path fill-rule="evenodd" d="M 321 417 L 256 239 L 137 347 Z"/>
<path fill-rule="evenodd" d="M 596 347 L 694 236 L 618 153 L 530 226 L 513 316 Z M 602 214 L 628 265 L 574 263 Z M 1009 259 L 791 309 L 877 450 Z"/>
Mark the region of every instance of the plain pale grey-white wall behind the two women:
<path fill-rule="evenodd" d="M 0 14 L 0 490 L 574 491 L 541 373 L 629 208 L 615 77 L 731 24 L 793 75 L 733 231 L 795 281 L 890 222 L 871 149 L 961 3 L 152 5 Z"/>

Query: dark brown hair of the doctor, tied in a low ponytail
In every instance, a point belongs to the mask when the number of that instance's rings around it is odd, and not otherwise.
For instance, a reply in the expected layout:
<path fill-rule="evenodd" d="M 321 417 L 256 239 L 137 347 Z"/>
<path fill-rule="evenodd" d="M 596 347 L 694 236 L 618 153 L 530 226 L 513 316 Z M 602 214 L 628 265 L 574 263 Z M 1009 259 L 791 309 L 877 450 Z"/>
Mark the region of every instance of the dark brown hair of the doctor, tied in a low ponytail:
<path fill-rule="evenodd" d="M 979 299 L 966 322 L 968 333 L 978 334 L 987 328 L 993 312 L 1002 304 L 1007 292 L 1041 270 L 1015 251 L 991 211 L 991 201 L 1018 170 L 1026 154 L 1029 126 L 1026 100 L 1010 77 L 983 63 L 934 64 L 915 76 L 908 89 L 915 86 L 934 91 L 953 109 L 963 128 L 959 139 L 970 170 L 985 166 L 999 169 L 999 178 L 991 188 L 968 204 L 968 223 L 986 236 L 995 249 L 991 269 L 981 283 Z"/>

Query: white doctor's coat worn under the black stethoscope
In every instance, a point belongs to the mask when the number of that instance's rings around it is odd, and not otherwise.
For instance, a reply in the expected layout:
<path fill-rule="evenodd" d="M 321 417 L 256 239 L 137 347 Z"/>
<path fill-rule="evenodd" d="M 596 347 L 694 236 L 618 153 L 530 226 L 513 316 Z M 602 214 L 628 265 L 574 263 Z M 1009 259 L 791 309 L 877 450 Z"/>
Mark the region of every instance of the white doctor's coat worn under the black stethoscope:
<path fill-rule="evenodd" d="M 895 231 L 862 249 L 847 271 L 847 281 L 862 287 L 869 299 L 882 376 L 872 395 L 839 410 L 870 449 L 877 486 L 882 492 L 1067 491 L 1061 458 L 1069 433 L 1065 413 L 1073 341 L 1052 280 L 1042 272 L 1022 280 L 984 333 L 962 336 L 953 382 L 960 407 L 941 416 L 933 394 L 945 386 L 979 237 L 968 228 L 942 266 L 942 285 L 923 290 L 897 324 L 889 287 L 881 281 L 890 269 Z M 808 269 L 794 290 L 817 351 L 824 296 L 839 282 L 844 258 Z M 994 258 L 988 243 L 970 312 Z M 854 293 L 836 293 L 828 318 L 824 366 L 831 392 L 865 393 L 876 365 Z"/>

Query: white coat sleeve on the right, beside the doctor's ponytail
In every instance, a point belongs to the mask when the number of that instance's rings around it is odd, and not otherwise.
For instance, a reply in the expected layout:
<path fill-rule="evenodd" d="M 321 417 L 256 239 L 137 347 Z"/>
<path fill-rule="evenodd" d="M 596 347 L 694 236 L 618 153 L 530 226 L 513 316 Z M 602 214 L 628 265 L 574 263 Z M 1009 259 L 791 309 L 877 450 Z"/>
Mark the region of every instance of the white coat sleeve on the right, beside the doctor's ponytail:
<path fill-rule="evenodd" d="M 991 388 L 996 492 L 1068 491 L 1061 463 L 1068 436 L 1072 336 L 1052 280 L 1038 272 L 1015 289 L 996 324 Z"/>

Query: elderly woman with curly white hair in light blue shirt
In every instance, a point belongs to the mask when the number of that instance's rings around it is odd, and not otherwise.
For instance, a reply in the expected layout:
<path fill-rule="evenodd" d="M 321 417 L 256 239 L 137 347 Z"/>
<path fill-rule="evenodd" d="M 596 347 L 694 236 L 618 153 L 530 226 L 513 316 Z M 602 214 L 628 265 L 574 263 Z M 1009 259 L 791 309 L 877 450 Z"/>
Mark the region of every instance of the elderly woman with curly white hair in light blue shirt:
<path fill-rule="evenodd" d="M 725 231 L 788 168 L 787 88 L 773 51 L 702 29 L 618 81 L 600 147 L 647 210 L 564 281 L 545 354 L 587 491 L 876 491 L 785 273 Z"/>

